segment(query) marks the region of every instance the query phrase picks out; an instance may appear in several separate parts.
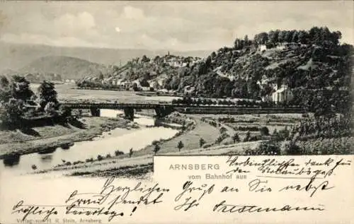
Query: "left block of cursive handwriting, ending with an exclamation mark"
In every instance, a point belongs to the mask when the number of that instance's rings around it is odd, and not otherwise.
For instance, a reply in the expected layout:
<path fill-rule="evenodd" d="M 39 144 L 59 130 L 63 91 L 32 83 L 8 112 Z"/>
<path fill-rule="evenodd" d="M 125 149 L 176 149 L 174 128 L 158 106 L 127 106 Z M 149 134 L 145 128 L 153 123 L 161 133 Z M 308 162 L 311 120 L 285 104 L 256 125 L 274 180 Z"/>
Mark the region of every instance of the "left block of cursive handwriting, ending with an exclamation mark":
<path fill-rule="evenodd" d="M 138 206 L 159 204 L 162 197 L 169 189 L 159 187 L 159 184 L 153 186 L 142 185 L 138 182 L 134 187 L 116 187 L 114 185 L 115 177 L 108 178 L 98 193 L 72 191 L 64 201 L 64 205 L 59 206 L 40 206 L 25 205 L 24 201 L 19 201 L 13 206 L 12 213 L 23 214 L 22 220 L 28 216 L 43 216 L 46 221 L 50 216 L 58 214 L 58 208 L 64 207 L 65 214 L 84 215 L 84 216 L 108 216 L 108 221 L 118 216 L 125 216 L 121 209 L 115 208 L 119 204 L 130 204 L 133 208 L 130 210 L 130 216 Z M 134 192 L 134 194 L 132 194 Z"/>

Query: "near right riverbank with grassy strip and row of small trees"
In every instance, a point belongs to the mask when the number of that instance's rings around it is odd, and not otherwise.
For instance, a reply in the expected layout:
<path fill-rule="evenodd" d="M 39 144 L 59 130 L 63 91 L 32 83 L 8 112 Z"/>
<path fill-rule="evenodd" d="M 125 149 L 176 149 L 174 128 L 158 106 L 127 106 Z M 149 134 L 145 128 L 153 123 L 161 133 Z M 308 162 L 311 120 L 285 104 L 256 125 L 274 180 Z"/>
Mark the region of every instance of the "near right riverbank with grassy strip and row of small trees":
<path fill-rule="evenodd" d="M 181 131 L 176 133 L 171 138 L 164 140 L 156 140 L 148 146 L 136 151 L 132 154 L 125 153 L 123 155 L 105 156 L 98 154 L 93 160 L 78 160 L 71 163 L 62 163 L 50 170 L 37 170 L 35 173 L 58 171 L 64 175 L 79 175 L 79 176 L 110 176 L 119 175 L 125 177 L 139 177 L 147 172 L 152 171 L 152 163 L 154 156 L 154 147 L 159 145 L 160 150 L 157 155 L 185 155 L 185 154 L 200 154 L 212 153 L 219 155 L 220 153 L 228 153 L 229 151 L 241 151 L 244 144 L 239 146 L 220 146 L 215 143 L 219 136 L 219 129 L 211 126 L 206 122 L 202 122 L 200 117 L 186 116 L 185 114 L 172 114 L 171 117 L 166 117 L 166 122 L 175 124 L 185 123 Z M 205 139 L 204 147 L 200 147 L 200 138 Z M 183 148 L 179 149 L 178 143 L 183 143 Z M 253 146 L 255 143 L 246 143 Z M 99 153 L 99 152 L 98 152 Z M 100 157 L 98 159 L 98 157 Z"/>

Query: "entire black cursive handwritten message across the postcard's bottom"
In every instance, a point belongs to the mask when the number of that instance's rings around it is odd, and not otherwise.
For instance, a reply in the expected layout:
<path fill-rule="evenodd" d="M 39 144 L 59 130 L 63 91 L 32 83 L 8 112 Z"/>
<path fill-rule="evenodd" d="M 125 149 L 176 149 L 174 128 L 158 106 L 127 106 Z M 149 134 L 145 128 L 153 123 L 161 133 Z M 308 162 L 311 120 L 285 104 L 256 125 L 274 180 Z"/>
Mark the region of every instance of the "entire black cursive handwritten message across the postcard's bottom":
<path fill-rule="evenodd" d="M 215 183 L 183 182 L 178 187 L 177 194 L 174 194 L 174 211 L 193 211 L 202 207 L 206 201 L 210 201 L 212 195 L 217 191 L 217 196 L 222 194 L 244 194 L 246 191 L 258 194 L 269 194 L 270 192 L 308 192 L 307 196 L 314 197 L 321 192 L 330 191 L 335 188 L 333 181 L 327 177 L 336 175 L 339 167 L 351 165 L 350 160 L 343 158 L 326 158 L 315 160 L 311 158 L 306 162 L 297 163 L 294 158 L 267 158 L 264 160 L 253 160 L 251 158 L 240 159 L 238 156 L 229 156 L 227 165 L 232 167 L 229 172 L 258 172 L 259 175 L 248 182 L 228 182 L 228 185 L 217 186 Z M 256 169 L 255 169 L 256 168 Z M 252 170 L 253 169 L 253 170 Z M 266 176 L 264 174 L 270 175 Z M 273 178 L 296 179 L 291 184 L 284 184 L 284 181 L 273 181 Z M 305 179 L 305 180 L 304 180 Z M 246 184 L 246 185 L 242 185 Z M 219 188 L 220 187 L 220 188 Z M 21 214 L 22 220 L 30 216 L 40 216 L 43 221 L 52 216 L 57 216 L 61 207 L 64 214 L 74 216 L 105 216 L 108 221 L 122 216 L 132 216 L 139 211 L 141 206 L 157 205 L 164 202 L 166 194 L 171 194 L 170 189 L 161 187 L 159 183 L 143 184 L 137 182 L 133 186 L 121 186 L 115 184 L 115 177 L 105 180 L 104 184 L 95 192 L 72 191 L 62 205 L 35 205 L 25 204 L 23 200 L 13 206 L 12 213 Z M 278 193 L 282 194 L 282 193 Z M 207 199 L 209 198 L 209 199 Z M 219 200 L 217 200 L 219 201 Z M 166 202 L 165 202 L 166 203 Z M 227 200 L 220 200 L 212 204 L 212 211 L 218 213 L 268 213 L 287 211 L 317 211 L 325 210 L 324 205 L 299 206 L 284 204 L 280 206 L 258 206 L 256 204 L 229 203 Z M 205 208 L 205 207 L 203 207 Z"/>

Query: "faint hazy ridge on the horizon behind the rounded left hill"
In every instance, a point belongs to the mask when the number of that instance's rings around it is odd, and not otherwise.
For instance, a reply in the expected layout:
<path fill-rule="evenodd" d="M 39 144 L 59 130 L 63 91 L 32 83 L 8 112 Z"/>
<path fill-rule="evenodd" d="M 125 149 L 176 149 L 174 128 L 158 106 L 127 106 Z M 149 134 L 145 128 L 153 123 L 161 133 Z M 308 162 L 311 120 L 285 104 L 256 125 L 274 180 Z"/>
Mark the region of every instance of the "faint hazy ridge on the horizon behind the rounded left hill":
<path fill-rule="evenodd" d="M 52 47 L 48 45 L 18 45 L 0 42 L 0 71 L 12 69 L 18 71 L 23 66 L 30 64 L 35 59 L 47 56 L 66 56 L 92 61 L 104 65 L 125 64 L 132 58 L 153 57 L 156 55 L 164 55 L 168 50 L 148 50 L 148 49 L 105 49 L 105 48 L 89 48 L 89 47 Z M 193 57 L 207 57 L 212 50 L 175 52 L 178 54 Z"/>

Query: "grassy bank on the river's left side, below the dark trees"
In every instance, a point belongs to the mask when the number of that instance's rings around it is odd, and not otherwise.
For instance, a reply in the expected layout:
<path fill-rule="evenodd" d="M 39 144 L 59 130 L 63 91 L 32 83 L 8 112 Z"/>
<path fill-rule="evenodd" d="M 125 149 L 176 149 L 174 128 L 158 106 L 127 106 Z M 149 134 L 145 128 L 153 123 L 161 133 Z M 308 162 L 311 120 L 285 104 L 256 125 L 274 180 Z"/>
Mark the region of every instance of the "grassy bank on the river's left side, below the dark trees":
<path fill-rule="evenodd" d="M 138 128 L 126 119 L 84 117 L 74 123 L 39 126 L 27 130 L 0 131 L 0 159 L 8 154 L 38 153 L 78 141 L 91 141 L 104 131 Z"/>

